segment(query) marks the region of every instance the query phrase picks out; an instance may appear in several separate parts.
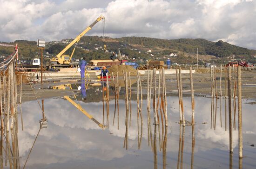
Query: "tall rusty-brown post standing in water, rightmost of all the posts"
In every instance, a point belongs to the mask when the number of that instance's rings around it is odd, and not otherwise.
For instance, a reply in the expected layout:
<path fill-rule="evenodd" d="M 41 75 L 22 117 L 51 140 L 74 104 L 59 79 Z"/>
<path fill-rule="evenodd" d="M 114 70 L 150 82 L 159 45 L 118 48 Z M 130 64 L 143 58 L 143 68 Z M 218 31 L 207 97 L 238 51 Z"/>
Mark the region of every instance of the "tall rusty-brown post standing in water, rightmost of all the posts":
<path fill-rule="evenodd" d="M 237 67 L 239 158 L 243 157 L 241 66 Z M 242 165 L 242 163 L 241 163 Z M 240 165 L 239 165 L 240 166 Z"/>

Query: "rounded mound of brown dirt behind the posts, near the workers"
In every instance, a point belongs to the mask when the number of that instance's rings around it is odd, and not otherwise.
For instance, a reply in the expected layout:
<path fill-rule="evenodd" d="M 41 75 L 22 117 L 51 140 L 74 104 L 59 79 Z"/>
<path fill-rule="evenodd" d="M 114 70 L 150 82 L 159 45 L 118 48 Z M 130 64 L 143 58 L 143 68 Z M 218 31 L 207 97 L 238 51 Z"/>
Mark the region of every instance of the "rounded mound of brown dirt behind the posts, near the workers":
<path fill-rule="evenodd" d="M 117 72 L 118 72 L 118 76 L 122 76 L 123 71 L 126 71 L 128 75 L 130 72 L 131 76 L 137 75 L 137 70 L 129 65 L 113 65 L 108 69 L 108 71 L 110 75 L 112 75 L 112 72 L 113 72 L 114 76 L 117 75 Z"/>

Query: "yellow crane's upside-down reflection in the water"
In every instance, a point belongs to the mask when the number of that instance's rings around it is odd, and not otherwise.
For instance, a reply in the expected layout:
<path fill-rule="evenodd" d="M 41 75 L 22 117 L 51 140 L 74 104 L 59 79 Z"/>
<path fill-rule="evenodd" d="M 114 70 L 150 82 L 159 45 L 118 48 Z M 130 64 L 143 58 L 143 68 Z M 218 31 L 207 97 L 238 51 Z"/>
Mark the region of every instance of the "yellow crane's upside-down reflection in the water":
<path fill-rule="evenodd" d="M 85 85 L 81 85 L 81 86 L 83 86 L 83 87 L 85 87 Z M 66 89 L 66 87 L 69 87 L 71 90 L 73 89 L 72 87 L 71 87 L 71 84 L 65 84 L 65 85 L 59 85 L 59 86 L 54 86 L 53 87 L 53 89 L 59 89 L 59 90 L 65 90 Z M 87 84 L 87 87 L 86 88 L 88 88 L 88 84 Z M 85 89 L 84 89 L 85 90 Z M 93 120 L 94 121 L 94 123 L 96 123 L 97 125 L 99 125 L 100 127 L 101 127 L 101 129 L 105 129 L 106 128 L 106 126 L 104 126 L 104 125 L 102 125 L 100 122 L 98 122 L 96 119 L 94 119 L 94 117 L 91 115 L 91 114 L 89 114 L 86 110 L 84 110 L 83 108 L 82 108 L 82 106 L 79 104 L 79 103 L 76 103 L 76 102 L 74 102 L 74 100 L 72 100 L 69 96 L 63 96 L 67 101 L 69 101 L 73 106 L 75 106 L 78 110 L 80 110 L 84 115 L 86 115 L 89 119 L 91 119 L 91 120 Z M 76 96 L 75 96 L 75 94 L 74 94 L 74 98 L 76 99 Z M 77 99 L 76 99 L 77 100 Z"/>

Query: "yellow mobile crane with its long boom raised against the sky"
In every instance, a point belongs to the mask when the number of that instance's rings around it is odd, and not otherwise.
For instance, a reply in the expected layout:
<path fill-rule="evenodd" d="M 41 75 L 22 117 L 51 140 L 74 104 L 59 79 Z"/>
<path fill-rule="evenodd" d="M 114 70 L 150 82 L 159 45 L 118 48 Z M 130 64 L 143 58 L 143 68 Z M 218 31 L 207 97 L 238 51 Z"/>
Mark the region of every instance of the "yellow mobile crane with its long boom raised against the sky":
<path fill-rule="evenodd" d="M 79 40 L 81 39 L 81 37 L 86 34 L 89 30 L 92 29 L 92 27 L 97 24 L 99 21 L 101 21 L 102 19 L 105 19 L 104 16 L 100 16 L 99 18 L 97 18 L 91 25 L 89 25 L 83 32 L 81 32 L 70 44 L 68 44 L 63 50 L 61 50 L 61 52 L 56 56 L 56 57 L 53 57 L 51 59 L 52 62 L 56 62 L 58 64 L 69 64 L 71 62 L 71 58 L 74 54 L 74 50 L 75 50 L 75 47 L 72 51 L 72 54 L 71 56 L 68 56 L 68 55 L 63 55 L 73 44 L 77 44 L 79 42 Z"/>

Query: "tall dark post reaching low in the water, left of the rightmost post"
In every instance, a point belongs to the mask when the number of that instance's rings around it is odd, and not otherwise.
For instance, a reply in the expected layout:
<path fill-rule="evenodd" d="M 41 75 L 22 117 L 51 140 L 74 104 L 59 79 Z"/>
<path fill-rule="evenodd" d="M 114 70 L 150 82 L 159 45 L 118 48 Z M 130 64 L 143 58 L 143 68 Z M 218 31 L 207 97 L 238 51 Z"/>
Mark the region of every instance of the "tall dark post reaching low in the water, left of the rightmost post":
<path fill-rule="evenodd" d="M 231 68 L 228 68 L 228 88 L 229 88 L 229 151 L 233 153 L 232 148 L 232 109 L 231 109 Z"/>

